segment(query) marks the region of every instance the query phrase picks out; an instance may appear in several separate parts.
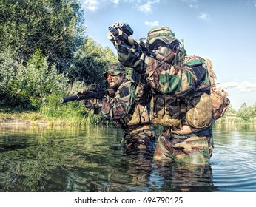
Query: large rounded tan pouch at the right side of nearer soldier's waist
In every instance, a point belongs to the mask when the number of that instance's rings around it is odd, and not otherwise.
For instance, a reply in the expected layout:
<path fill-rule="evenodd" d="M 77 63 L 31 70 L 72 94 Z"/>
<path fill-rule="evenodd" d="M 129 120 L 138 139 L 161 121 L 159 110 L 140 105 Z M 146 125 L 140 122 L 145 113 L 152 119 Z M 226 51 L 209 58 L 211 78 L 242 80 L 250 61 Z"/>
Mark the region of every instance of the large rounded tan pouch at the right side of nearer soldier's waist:
<path fill-rule="evenodd" d="M 212 124 L 212 101 L 205 92 L 195 92 L 188 98 L 188 111 L 186 123 L 197 129 L 211 126 Z"/>

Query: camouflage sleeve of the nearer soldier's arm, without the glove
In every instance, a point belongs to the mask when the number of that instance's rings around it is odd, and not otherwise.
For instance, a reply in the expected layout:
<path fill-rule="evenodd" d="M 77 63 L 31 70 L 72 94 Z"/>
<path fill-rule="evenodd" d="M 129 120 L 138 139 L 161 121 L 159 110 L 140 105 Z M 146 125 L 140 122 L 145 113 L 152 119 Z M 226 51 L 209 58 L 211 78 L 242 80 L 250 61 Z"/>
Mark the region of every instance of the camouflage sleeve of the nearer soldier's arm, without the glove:
<path fill-rule="evenodd" d="M 206 69 L 201 67 L 172 66 L 149 58 L 146 68 L 146 81 L 149 85 L 164 94 L 183 95 L 194 91 L 201 84 L 207 84 Z"/>

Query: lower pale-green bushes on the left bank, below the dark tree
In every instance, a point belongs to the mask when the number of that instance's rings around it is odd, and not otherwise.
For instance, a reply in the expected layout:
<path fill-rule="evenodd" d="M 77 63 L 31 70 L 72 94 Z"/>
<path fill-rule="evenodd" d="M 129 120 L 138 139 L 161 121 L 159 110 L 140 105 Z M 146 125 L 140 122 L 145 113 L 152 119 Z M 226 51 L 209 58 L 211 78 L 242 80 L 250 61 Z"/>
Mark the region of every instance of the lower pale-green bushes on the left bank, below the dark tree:
<path fill-rule="evenodd" d="M 68 79 L 49 66 L 41 51 L 28 61 L 27 67 L 10 53 L 0 54 L 0 106 L 39 109 L 46 95 L 67 89 Z"/>

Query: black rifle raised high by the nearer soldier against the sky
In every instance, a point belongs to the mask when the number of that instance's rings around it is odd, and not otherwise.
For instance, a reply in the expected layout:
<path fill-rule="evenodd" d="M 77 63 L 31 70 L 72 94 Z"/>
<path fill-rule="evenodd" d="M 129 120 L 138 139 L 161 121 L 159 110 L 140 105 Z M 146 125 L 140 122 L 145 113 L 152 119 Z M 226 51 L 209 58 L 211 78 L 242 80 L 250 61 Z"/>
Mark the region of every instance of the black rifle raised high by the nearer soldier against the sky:
<path fill-rule="evenodd" d="M 112 41 L 113 39 L 120 39 L 124 41 L 125 44 L 133 48 L 141 47 L 141 52 L 144 54 L 151 56 L 152 58 L 155 57 L 154 53 L 150 52 L 147 48 L 146 38 L 141 38 L 138 41 L 135 41 L 131 35 L 133 34 L 133 30 L 129 27 L 129 24 L 124 22 L 115 22 L 112 26 L 108 27 L 109 33 L 107 33 L 107 38 Z"/>

